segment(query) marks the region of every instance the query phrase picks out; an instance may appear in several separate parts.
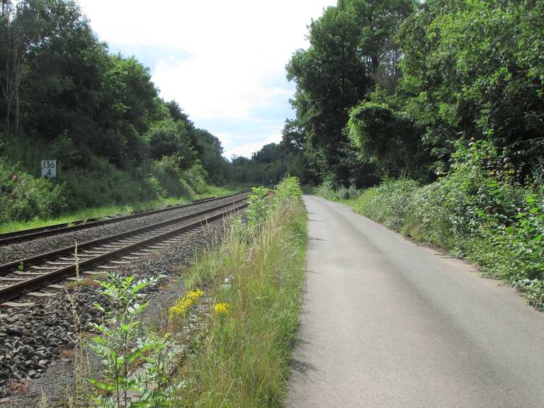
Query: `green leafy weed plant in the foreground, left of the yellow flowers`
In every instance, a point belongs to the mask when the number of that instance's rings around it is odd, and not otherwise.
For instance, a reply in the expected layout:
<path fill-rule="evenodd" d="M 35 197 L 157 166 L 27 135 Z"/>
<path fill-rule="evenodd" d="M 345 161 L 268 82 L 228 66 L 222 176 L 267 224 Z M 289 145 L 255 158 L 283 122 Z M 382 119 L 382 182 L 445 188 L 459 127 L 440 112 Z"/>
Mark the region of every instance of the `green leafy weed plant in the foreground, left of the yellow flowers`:
<path fill-rule="evenodd" d="M 141 321 L 147 307 L 147 302 L 140 303 L 142 290 L 158 280 L 111 274 L 98 282 L 111 309 L 96 304 L 105 317 L 101 324 L 91 324 L 98 335 L 91 337 L 89 346 L 103 363 L 103 378 L 88 379 L 96 406 L 167 406 L 166 390 L 172 386 L 167 376 L 169 359 L 176 346 L 168 335 L 143 333 Z"/>

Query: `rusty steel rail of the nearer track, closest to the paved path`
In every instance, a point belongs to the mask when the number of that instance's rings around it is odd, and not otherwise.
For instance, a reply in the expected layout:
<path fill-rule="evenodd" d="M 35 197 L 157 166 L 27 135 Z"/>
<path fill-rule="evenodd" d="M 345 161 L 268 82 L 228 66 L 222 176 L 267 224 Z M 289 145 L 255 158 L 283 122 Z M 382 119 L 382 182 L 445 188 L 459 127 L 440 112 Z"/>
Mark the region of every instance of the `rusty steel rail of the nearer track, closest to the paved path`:
<path fill-rule="evenodd" d="M 212 215 L 211 217 L 205 217 L 203 220 L 198 220 L 189 225 L 183 225 L 179 228 L 171 229 L 168 232 L 157 234 L 154 237 L 143 239 L 139 242 L 128 244 L 118 249 L 113 249 L 112 251 L 108 251 L 104 254 L 99 254 L 98 256 L 94 256 L 90 259 L 82 259 L 81 261 L 77 262 L 74 261 L 74 263 L 69 266 L 64 266 L 62 268 L 55 269 L 54 271 L 42 273 L 33 278 L 21 280 L 18 283 L 14 283 L 4 288 L 0 288 L 0 300 L 3 302 L 13 300 L 16 297 L 21 296 L 23 292 L 27 290 L 35 290 L 36 288 L 41 288 L 45 283 L 55 283 L 58 280 L 62 280 L 69 275 L 73 275 L 74 273 L 76 273 L 76 268 L 83 268 L 86 266 L 95 265 L 96 263 L 101 263 L 107 259 L 116 258 L 121 254 L 132 252 L 135 249 L 141 248 L 142 246 L 149 246 L 150 244 L 154 244 L 155 242 L 163 241 L 164 239 L 183 234 L 184 232 L 189 232 L 198 227 L 203 227 L 209 222 L 219 220 L 220 218 L 230 215 L 233 212 L 242 210 L 242 208 L 245 208 L 246 206 L 247 203 L 242 203 L 242 205 L 237 205 L 234 208 L 231 208 L 227 211 L 222 211 L 220 212 L 220 214 Z M 225 207 L 225 205 L 222 205 L 221 207 Z"/>

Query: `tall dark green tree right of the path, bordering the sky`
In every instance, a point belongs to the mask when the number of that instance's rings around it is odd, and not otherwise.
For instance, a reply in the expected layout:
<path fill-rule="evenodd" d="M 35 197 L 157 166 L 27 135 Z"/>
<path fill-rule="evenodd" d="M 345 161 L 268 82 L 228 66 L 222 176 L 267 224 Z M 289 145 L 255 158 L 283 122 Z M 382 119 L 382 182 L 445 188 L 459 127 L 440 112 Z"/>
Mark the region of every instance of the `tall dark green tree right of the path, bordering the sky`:
<path fill-rule="evenodd" d="M 296 125 L 288 123 L 286 142 L 302 142 L 307 161 L 319 178 L 334 183 L 357 180 L 346 166 L 343 146 L 348 111 L 373 91 L 377 81 L 395 83 L 399 52 L 394 35 L 412 9 L 412 1 L 340 0 L 310 24 L 310 47 L 298 50 L 286 69 L 295 81 Z"/>

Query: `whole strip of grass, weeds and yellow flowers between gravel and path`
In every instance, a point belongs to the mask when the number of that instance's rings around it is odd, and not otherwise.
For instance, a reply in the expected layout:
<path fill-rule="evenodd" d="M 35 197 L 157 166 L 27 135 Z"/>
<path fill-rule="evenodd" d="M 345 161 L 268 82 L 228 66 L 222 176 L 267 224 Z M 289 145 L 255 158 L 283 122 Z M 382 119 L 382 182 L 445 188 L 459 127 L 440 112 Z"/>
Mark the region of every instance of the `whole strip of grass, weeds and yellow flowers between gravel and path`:
<path fill-rule="evenodd" d="M 301 196 L 295 177 L 273 191 L 254 188 L 244 217 L 225 225 L 186 271 L 186 293 L 164 322 L 148 327 L 141 318 L 142 290 L 160 277 L 101 281 L 104 302 L 96 308 L 103 319 L 77 331 L 104 366 L 91 375 L 84 353 L 76 353 L 76 389 L 67 405 L 281 407 L 302 305 Z M 77 303 L 77 288 L 71 298 Z"/>

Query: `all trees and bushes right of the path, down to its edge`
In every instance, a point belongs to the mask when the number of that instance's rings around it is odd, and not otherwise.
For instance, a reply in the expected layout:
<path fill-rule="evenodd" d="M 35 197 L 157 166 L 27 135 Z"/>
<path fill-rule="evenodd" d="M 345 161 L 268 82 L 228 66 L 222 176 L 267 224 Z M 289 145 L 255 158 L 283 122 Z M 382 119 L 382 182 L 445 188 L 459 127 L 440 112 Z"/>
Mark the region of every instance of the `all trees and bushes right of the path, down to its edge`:
<path fill-rule="evenodd" d="M 308 37 L 283 143 L 316 193 L 544 307 L 544 1 L 339 0 Z"/>

